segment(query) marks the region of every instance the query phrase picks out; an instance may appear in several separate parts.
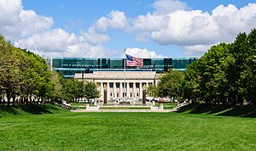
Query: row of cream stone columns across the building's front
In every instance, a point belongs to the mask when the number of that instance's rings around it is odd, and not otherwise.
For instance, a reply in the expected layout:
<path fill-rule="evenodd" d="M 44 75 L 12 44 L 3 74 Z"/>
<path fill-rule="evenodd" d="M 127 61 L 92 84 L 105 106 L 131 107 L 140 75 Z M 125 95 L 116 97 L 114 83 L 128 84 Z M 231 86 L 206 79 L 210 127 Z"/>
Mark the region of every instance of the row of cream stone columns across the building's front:
<path fill-rule="evenodd" d="M 103 99 L 103 92 L 104 92 L 104 88 L 107 89 L 107 96 L 108 96 L 108 100 L 111 98 L 110 96 L 110 83 L 113 83 L 113 95 L 112 98 L 125 98 L 125 92 L 126 92 L 126 98 L 143 98 L 143 85 L 145 84 L 145 87 L 148 87 L 149 84 L 153 84 L 152 82 L 101 82 L 101 87 L 100 87 L 100 91 L 101 91 L 101 98 Z M 116 84 L 119 83 L 119 96 L 117 97 L 117 87 Z M 124 87 L 123 87 L 123 83 Z M 130 83 L 133 83 L 132 85 L 132 90 L 130 87 Z M 137 88 L 136 88 L 136 84 L 139 83 L 139 96 L 137 96 Z M 127 91 L 125 91 L 125 89 Z M 132 92 L 131 92 L 132 91 Z M 124 93 L 124 95 L 123 95 Z M 130 95 L 132 93 L 132 96 Z"/>

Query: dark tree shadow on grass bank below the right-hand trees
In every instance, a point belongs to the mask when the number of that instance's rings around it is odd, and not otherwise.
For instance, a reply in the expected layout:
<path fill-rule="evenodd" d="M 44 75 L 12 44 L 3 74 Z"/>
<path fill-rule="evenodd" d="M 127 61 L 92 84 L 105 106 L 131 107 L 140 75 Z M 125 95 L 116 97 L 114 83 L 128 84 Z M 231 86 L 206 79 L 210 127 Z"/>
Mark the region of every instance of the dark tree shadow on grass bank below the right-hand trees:
<path fill-rule="evenodd" d="M 256 117 L 256 107 L 253 106 L 189 104 L 177 110 L 177 113 L 183 112 L 189 114 Z"/>

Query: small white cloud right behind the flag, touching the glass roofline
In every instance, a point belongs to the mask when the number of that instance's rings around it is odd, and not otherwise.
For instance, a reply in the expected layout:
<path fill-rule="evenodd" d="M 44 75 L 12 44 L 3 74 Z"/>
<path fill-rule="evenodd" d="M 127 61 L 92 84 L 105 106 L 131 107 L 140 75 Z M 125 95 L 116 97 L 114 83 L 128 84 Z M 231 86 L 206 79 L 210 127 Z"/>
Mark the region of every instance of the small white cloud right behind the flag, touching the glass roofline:
<path fill-rule="evenodd" d="M 126 48 L 125 53 L 142 59 L 165 57 L 160 54 L 156 54 L 154 51 L 148 50 L 146 48 Z"/>

